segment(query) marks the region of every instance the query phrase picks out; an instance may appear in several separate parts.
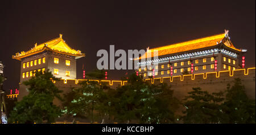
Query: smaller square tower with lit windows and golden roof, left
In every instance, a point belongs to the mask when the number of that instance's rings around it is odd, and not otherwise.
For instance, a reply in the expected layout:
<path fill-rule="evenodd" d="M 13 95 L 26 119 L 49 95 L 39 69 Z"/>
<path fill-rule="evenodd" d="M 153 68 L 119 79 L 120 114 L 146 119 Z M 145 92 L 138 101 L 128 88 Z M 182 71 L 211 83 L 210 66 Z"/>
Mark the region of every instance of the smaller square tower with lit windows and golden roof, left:
<path fill-rule="evenodd" d="M 56 77 L 61 79 L 76 79 L 76 59 L 85 56 L 80 50 L 74 50 L 63 40 L 62 34 L 59 38 L 40 43 L 26 52 L 16 53 L 13 59 L 21 61 L 20 86 L 18 101 L 27 95 L 26 86 L 23 81 L 34 76 L 34 71 L 46 71 L 49 69 Z"/>

